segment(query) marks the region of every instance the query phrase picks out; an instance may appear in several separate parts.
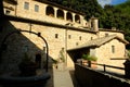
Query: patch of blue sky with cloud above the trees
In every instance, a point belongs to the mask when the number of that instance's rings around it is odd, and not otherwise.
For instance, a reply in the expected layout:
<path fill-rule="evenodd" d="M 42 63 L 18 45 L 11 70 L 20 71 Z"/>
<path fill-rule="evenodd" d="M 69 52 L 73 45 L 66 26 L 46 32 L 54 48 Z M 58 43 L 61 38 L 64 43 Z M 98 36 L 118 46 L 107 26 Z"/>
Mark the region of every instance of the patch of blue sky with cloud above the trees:
<path fill-rule="evenodd" d="M 112 4 L 112 5 L 119 4 L 127 0 L 98 0 L 98 1 L 102 7 L 104 7 L 105 4 Z"/>

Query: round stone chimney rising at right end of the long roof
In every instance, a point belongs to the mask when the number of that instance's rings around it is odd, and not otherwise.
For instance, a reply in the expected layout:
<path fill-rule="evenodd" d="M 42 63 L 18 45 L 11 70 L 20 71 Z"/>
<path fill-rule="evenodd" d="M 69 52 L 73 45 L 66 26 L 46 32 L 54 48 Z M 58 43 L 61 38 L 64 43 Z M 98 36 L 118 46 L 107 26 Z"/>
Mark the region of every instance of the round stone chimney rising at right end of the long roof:
<path fill-rule="evenodd" d="M 93 32 L 99 32 L 99 18 L 92 16 L 91 17 L 91 28 Z"/>

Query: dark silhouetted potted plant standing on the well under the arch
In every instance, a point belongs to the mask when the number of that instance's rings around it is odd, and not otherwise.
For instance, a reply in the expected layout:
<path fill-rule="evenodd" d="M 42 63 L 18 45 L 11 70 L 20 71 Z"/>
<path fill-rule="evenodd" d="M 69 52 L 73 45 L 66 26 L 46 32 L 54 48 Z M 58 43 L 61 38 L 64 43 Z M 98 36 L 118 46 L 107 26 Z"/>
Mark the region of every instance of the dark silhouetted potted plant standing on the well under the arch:
<path fill-rule="evenodd" d="M 21 76 L 32 76 L 36 75 L 37 63 L 31 61 L 27 53 L 25 53 L 24 59 L 18 64 Z"/>

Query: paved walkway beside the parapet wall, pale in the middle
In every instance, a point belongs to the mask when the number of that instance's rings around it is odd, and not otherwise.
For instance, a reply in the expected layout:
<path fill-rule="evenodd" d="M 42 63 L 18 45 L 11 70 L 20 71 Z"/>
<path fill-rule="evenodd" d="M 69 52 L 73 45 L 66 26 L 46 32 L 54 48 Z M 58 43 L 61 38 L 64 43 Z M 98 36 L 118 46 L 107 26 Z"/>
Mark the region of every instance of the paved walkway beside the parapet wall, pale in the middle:
<path fill-rule="evenodd" d="M 74 69 L 55 69 L 49 71 L 51 78 L 49 79 L 47 87 L 79 87 L 75 75 Z"/>

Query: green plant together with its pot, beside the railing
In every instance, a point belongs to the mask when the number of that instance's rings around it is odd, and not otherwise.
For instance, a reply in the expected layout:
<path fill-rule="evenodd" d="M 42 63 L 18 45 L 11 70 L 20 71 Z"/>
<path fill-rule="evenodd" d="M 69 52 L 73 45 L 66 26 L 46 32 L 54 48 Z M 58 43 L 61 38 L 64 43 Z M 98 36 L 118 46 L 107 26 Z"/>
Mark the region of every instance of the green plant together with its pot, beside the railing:
<path fill-rule="evenodd" d="M 88 66 L 91 67 L 91 61 L 96 61 L 98 58 L 94 55 L 90 55 L 90 54 L 82 54 L 81 57 L 84 61 L 88 62 Z"/>

